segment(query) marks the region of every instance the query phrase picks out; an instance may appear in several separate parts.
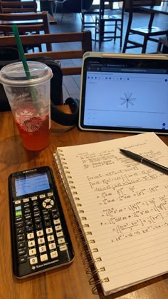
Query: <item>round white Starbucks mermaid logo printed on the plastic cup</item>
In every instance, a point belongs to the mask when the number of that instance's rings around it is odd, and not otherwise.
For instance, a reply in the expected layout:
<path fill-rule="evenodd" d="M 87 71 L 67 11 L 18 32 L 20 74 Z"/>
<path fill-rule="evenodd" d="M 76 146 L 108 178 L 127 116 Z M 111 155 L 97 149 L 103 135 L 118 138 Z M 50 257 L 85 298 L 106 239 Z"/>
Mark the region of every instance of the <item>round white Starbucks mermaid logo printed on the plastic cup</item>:
<path fill-rule="evenodd" d="M 41 117 L 39 114 L 34 115 L 33 109 L 32 111 L 27 109 L 17 111 L 15 118 L 21 129 L 27 132 L 38 131 L 42 124 Z"/>

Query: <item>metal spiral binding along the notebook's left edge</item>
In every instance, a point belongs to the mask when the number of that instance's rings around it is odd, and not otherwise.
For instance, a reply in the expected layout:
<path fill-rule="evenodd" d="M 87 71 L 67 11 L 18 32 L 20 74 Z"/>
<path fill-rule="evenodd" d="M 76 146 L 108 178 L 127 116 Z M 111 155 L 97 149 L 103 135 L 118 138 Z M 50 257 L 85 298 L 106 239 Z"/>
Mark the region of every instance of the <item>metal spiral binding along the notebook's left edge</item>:
<path fill-rule="evenodd" d="M 61 159 L 61 163 L 62 163 L 62 166 L 63 166 L 63 170 L 65 171 L 66 178 L 68 179 L 68 185 L 70 186 L 70 192 L 73 194 L 73 201 L 76 202 L 75 206 L 76 206 L 76 208 L 81 208 L 80 210 L 78 210 L 78 214 L 84 214 L 85 211 L 82 209 L 82 204 L 79 203 L 80 198 L 78 197 L 78 192 L 75 191 L 75 186 L 73 186 L 73 178 L 72 178 L 72 176 L 70 176 L 70 171 L 68 170 L 68 166 L 67 166 L 67 163 L 65 161 L 64 155 L 63 155 L 61 149 L 58 149 L 57 151 L 58 151 L 59 158 Z M 64 186 L 65 193 L 69 197 L 70 194 L 68 193 L 68 188 L 66 186 L 67 183 L 63 179 L 63 176 L 61 176 L 61 169 L 59 169 L 59 167 L 58 167 L 58 164 L 59 164 L 59 162 L 57 163 L 58 157 L 56 155 L 54 155 L 54 159 L 55 159 L 54 162 L 56 162 L 55 165 L 57 167 L 58 173 L 59 173 L 59 175 L 60 175 L 60 177 L 62 178 L 62 181 L 63 181 L 63 186 Z M 93 258 L 91 256 L 91 253 L 98 253 L 98 248 L 95 247 L 92 250 L 88 250 L 88 244 L 89 243 L 95 243 L 95 240 L 93 240 L 93 239 L 85 240 L 85 235 L 92 235 L 92 232 L 87 231 L 87 232 L 83 233 L 83 228 L 89 228 L 90 225 L 88 223 L 85 223 L 84 225 L 80 225 L 80 223 L 78 223 L 77 218 L 75 218 L 75 214 L 73 212 L 73 207 L 72 206 L 71 206 L 71 211 L 73 213 L 73 218 L 75 219 L 75 224 L 78 227 L 78 233 L 75 233 L 75 238 L 78 242 L 79 247 L 80 248 L 82 247 L 82 250 L 84 248 L 84 251 L 81 251 L 80 255 L 81 255 L 81 258 L 83 260 L 83 265 L 85 265 L 85 272 L 88 275 L 92 276 L 88 280 L 88 282 L 89 282 L 90 285 L 93 285 L 93 288 L 92 288 L 93 294 L 98 294 L 98 289 L 97 288 L 100 285 L 100 283 L 106 283 L 106 282 L 109 282 L 110 280 L 109 280 L 109 278 L 98 279 L 98 273 L 104 272 L 105 267 L 100 267 L 100 268 L 97 268 L 97 269 L 93 270 L 93 266 L 95 265 L 95 263 L 101 262 L 102 259 L 100 257 L 98 257 L 98 258 L 95 258 L 93 260 Z M 87 218 L 85 216 L 81 215 L 80 216 L 80 221 L 87 221 Z M 74 225 L 74 221 L 73 221 L 73 225 Z M 74 230 L 74 232 L 75 232 L 75 230 Z M 81 245 L 81 238 L 83 238 L 83 240 L 84 240 L 82 242 L 82 245 Z M 86 268 L 86 266 L 87 266 L 87 268 Z"/>

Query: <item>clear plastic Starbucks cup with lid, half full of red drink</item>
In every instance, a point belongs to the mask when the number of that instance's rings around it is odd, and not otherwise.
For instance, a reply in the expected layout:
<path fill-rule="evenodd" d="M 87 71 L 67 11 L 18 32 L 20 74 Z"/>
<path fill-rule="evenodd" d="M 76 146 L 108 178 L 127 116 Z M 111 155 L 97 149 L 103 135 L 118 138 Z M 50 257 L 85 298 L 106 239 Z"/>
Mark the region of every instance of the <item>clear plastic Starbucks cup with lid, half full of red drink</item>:
<path fill-rule="evenodd" d="M 40 151 L 49 144 L 51 127 L 51 68 L 41 62 L 28 61 L 28 79 L 21 62 L 1 69 L 0 82 L 19 129 L 23 146 Z"/>

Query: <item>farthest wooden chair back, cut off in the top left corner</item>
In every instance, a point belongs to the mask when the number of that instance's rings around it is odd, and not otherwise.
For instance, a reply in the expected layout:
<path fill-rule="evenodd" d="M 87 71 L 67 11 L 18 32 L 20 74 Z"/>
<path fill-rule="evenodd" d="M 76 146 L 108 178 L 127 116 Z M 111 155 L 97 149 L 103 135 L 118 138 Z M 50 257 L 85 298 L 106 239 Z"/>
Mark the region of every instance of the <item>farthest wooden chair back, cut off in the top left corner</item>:
<path fill-rule="evenodd" d="M 0 1 L 0 13 L 37 12 L 36 0 L 31 1 Z"/>

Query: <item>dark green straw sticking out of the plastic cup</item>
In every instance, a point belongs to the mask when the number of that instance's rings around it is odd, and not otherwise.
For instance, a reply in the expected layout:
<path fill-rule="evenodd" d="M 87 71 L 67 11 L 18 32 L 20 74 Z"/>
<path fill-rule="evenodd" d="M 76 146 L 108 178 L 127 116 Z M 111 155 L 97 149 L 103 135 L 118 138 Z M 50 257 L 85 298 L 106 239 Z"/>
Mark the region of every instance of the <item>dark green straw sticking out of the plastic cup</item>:
<path fill-rule="evenodd" d="M 27 77 L 28 80 L 30 80 L 31 79 L 31 74 L 30 74 L 30 71 L 28 69 L 28 64 L 27 64 L 27 61 L 26 61 L 26 56 L 25 56 L 24 51 L 23 51 L 23 46 L 21 44 L 21 38 L 19 36 L 18 27 L 16 25 L 12 25 L 11 28 L 12 28 L 12 31 L 14 33 L 15 39 L 16 39 L 16 44 L 17 44 L 17 47 L 18 47 L 18 50 L 19 50 L 19 54 L 20 54 L 20 57 L 21 57 L 21 61 L 22 61 L 22 64 L 23 64 L 23 68 L 24 68 L 26 77 Z M 36 102 L 37 101 L 36 91 L 33 88 L 33 86 L 30 86 L 30 88 L 31 88 L 31 96 L 33 97 L 33 100 Z"/>

